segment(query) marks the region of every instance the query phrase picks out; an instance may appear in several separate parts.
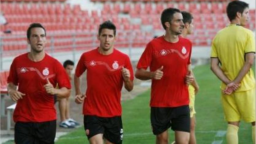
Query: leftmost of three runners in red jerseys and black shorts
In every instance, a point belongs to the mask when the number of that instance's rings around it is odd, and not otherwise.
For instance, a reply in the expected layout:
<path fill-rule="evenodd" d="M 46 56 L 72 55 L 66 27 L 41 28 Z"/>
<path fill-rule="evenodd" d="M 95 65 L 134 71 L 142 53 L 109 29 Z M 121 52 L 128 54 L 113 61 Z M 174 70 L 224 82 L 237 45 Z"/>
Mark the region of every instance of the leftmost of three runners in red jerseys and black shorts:
<path fill-rule="evenodd" d="M 8 94 L 17 102 L 13 113 L 16 144 L 53 144 L 56 134 L 54 97 L 70 95 L 70 81 L 61 63 L 45 53 L 46 32 L 38 23 L 27 30 L 30 52 L 10 67 Z M 59 89 L 56 89 L 58 83 Z M 18 86 L 18 90 L 17 90 Z"/>

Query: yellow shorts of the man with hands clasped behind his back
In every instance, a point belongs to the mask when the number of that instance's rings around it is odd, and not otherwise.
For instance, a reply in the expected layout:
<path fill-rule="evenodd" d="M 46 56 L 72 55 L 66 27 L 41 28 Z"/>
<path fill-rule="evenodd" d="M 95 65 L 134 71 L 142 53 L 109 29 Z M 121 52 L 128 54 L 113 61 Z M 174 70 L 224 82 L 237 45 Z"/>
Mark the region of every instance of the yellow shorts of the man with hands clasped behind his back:
<path fill-rule="evenodd" d="M 255 121 L 255 88 L 252 90 L 235 92 L 231 95 L 221 94 L 225 120 L 237 122 Z"/>

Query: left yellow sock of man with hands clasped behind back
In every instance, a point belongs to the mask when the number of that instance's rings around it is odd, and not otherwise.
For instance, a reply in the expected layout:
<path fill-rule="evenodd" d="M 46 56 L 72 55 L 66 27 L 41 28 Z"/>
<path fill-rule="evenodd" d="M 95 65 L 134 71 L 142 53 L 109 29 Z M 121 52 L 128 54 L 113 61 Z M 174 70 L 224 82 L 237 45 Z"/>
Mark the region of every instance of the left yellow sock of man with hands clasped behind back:
<path fill-rule="evenodd" d="M 238 129 L 236 125 L 227 125 L 227 144 L 238 144 Z"/>

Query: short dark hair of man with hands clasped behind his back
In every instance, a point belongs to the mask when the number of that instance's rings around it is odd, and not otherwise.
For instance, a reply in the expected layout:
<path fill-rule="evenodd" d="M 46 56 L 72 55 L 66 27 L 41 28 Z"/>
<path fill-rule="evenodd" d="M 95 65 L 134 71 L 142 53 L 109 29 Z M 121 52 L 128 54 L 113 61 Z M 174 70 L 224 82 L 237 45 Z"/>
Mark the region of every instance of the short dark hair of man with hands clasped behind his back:
<path fill-rule="evenodd" d="M 236 18 L 237 12 L 243 13 L 244 9 L 249 8 L 249 4 L 243 1 L 231 1 L 227 5 L 227 17 L 230 21 Z"/>

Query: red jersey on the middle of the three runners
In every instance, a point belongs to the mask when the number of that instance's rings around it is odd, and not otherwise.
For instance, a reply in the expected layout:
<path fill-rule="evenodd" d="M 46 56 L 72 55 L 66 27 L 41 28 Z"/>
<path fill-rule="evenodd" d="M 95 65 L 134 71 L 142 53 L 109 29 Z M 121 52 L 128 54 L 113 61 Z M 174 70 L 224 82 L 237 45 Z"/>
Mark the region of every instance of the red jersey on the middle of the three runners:
<path fill-rule="evenodd" d="M 84 115 L 113 117 L 122 114 L 121 90 L 124 83 L 122 67 L 133 70 L 129 57 L 114 49 L 110 55 L 102 55 L 98 48 L 82 54 L 77 67 L 76 76 L 80 77 L 87 70 L 86 99 L 83 103 Z"/>

